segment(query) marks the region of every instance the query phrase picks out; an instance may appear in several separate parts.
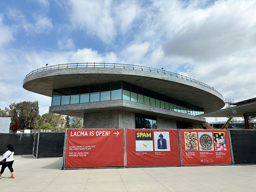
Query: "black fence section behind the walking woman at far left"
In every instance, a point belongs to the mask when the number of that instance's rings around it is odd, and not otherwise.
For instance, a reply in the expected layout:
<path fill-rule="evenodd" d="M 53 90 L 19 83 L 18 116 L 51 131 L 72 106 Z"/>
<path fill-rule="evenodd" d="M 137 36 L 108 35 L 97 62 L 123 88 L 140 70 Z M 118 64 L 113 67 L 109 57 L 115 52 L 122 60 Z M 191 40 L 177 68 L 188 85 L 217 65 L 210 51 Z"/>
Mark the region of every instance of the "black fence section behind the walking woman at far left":
<path fill-rule="evenodd" d="M 32 155 L 34 137 L 34 133 L 1 133 L 0 154 L 6 151 L 7 144 L 12 144 L 15 155 Z"/>

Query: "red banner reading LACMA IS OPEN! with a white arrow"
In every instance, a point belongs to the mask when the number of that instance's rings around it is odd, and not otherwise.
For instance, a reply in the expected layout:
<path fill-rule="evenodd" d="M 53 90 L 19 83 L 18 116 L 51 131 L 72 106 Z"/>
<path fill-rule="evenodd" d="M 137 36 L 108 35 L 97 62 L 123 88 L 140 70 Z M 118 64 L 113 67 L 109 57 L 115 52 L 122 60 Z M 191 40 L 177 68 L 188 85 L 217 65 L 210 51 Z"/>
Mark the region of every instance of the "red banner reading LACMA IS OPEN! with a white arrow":
<path fill-rule="evenodd" d="M 124 129 L 68 129 L 65 168 L 124 166 Z"/>

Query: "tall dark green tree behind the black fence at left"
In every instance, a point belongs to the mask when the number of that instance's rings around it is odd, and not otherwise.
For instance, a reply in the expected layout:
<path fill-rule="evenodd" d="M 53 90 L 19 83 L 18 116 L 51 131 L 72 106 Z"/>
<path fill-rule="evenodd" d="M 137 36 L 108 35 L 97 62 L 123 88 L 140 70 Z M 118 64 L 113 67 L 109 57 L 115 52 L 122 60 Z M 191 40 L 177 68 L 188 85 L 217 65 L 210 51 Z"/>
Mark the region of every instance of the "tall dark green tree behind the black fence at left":
<path fill-rule="evenodd" d="M 9 105 L 11 121 L 16 121 L 19 129 L 37 129 L 39 124 L 38 101 L 11 103 Z"/>

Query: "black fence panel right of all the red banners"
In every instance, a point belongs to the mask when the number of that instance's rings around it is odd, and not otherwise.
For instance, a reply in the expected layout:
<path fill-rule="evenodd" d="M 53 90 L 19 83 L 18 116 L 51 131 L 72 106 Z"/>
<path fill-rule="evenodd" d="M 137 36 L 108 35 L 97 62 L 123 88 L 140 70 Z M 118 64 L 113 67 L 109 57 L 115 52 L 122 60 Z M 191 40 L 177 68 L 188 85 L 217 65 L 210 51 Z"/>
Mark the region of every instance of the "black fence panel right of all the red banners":
<path fill-rule="evenodd" d="M 235 164 L 256 164 L 256 130 L 230 130 Z"/>

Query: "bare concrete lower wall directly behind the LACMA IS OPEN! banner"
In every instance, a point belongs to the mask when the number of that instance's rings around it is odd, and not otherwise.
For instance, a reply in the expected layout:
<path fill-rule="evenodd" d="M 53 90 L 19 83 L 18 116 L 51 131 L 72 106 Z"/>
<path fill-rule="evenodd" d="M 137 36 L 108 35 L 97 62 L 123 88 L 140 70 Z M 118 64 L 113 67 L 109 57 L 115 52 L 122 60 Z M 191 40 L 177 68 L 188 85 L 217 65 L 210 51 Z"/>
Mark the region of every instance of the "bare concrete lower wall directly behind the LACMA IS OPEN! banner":
<path fill-rule="evenodd" d="M 113 110 L 84 114 L 83 128 L 135 129 L 135 113 L 122 110 Z"/>

